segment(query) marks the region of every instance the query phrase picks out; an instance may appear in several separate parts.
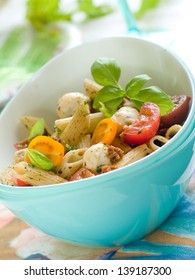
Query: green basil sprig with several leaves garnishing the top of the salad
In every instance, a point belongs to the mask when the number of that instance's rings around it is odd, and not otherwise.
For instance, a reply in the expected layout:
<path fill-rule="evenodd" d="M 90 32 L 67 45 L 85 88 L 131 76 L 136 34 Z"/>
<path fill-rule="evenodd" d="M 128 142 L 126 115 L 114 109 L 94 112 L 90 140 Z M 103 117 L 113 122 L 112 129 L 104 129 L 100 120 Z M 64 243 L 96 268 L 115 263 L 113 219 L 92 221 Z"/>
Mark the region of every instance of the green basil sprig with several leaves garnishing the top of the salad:
<path fill-rule="evenodd" d="M 139 110 L 144 102 L 158 105 L 161 116 L 170 112 L 174 105 L 170 97 L 159 87 L 145 84 L 151 80 L 147 74 L 138 75 L 129 80 L 123 89 L 119 85 L 121 69 L 114 58 L 102 57 L 91 66 L 94 80 L 103 86 L 93 102 L 93 108 L 101 111 L 105 117 L 111 117 L 124 98 L 128 98 Z"/>

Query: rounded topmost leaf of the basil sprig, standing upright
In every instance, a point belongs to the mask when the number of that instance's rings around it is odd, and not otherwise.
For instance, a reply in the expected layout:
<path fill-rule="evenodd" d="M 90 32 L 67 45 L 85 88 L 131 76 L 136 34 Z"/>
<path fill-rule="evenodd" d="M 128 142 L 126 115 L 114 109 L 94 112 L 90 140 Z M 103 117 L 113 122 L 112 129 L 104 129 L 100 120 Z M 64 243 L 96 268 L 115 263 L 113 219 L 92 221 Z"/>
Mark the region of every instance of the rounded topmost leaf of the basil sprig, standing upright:
<path fill-rule="evenodd" d="M 118 80 L 121 69 L 114 58 L 102 57 L 97 59 L 91 66 L 91 74 L 96 83 L 102 86 L 120 87 Z"/>

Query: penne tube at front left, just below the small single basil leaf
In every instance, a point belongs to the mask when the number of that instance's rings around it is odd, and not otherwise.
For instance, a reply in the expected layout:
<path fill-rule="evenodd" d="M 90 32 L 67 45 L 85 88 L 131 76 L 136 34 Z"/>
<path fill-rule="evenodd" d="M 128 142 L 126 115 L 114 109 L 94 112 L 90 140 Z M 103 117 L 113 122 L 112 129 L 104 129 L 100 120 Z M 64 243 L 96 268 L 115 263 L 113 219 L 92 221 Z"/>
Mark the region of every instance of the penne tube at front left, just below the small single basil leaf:
<path fill-rule="evenodd" d="M 45 171 L 29 165 L 27 162 L 19 162 L 12 166 L 14 177 L 32 186 L 44 186 L 67 182 L 64 178 L 51 171 Z"/>

